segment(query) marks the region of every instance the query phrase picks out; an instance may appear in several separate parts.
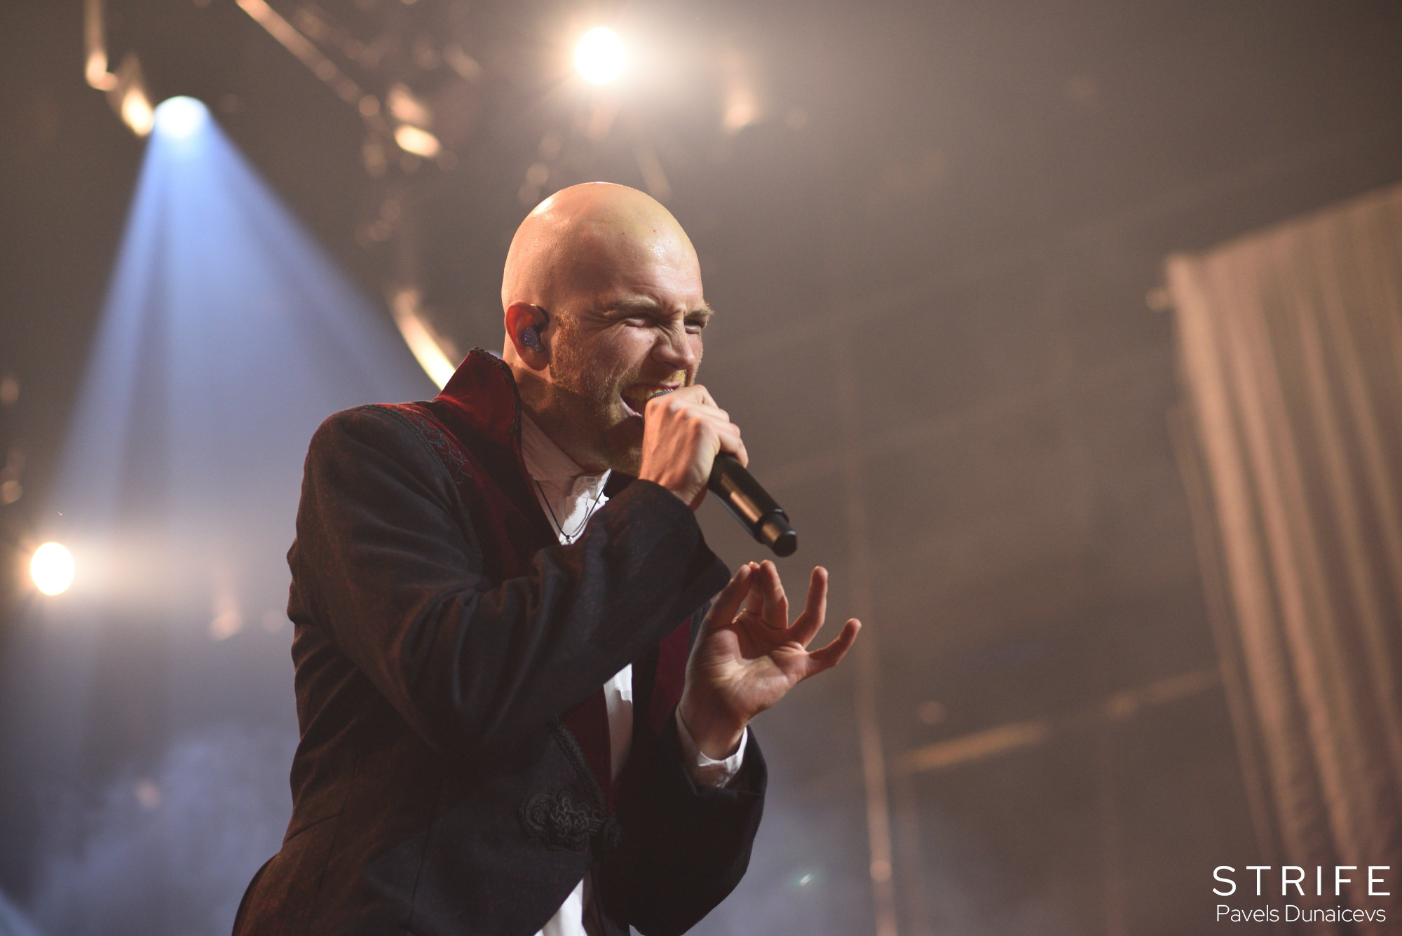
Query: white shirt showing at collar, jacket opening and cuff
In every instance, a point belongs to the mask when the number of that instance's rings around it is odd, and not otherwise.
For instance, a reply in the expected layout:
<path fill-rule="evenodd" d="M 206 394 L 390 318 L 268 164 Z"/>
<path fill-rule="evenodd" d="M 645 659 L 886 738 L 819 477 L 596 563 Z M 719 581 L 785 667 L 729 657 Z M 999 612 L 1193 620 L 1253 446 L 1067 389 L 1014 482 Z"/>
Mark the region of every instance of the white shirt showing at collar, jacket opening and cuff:
<path fill-rule="evenodd" d="M 533 479 L 536 499 L 555 527 L 559 541 L 573 542 L 594 511 L 607 503 L 604 485 L 608 482 L 608 472 L 586 475 L 526 413 L 522 413 L 522 457 Z M 632 744 L 631 663 L 604 682 L 604 708 L 608 712 L 608 769 L 617 779 L 628 762 L 628 748 Z M 750 730 L 746 729 L 735 754 L 716 761 L 701 752 L 677 716 L 677 736 L 687 755 L 687 768 L 693 779 L 708 786 L 725 786 L 740 772 L 749 734 Z M 597 936 L 594 915 L 586 912 L 592 902 L 593 888 L 585 874 L 536 936 Z"/>

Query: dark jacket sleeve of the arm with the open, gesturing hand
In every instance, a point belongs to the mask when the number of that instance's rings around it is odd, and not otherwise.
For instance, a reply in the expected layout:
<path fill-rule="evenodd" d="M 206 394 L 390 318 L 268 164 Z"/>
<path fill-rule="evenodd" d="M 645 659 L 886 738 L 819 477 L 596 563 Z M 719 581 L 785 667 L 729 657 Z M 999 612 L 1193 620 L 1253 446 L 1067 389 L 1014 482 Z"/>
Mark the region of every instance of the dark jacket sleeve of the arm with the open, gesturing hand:
<path fill-rule="evenodd" d="M 695 926 L 750 865 L 768 772 L 754 731 L 730 786 L 691 779 L 676 717 L 628 755 L 618 796 L 618 846 L 596 872 L 601 904 L 642 936 Z"/>

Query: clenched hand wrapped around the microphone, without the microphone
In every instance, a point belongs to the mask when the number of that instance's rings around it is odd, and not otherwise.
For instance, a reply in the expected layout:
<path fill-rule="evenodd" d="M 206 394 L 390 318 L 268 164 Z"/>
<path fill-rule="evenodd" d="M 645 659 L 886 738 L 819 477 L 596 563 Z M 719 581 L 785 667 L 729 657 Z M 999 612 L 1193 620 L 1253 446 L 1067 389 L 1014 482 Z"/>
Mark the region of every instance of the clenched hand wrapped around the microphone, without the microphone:
<path fill-rule="evenodd" d="M 638 476 L 662 485 L 693 510 L 705 499 L 716 453 L 728 451 L 742 465 L 750 462 L 740 427 L 701 384 L 653 397 L 644 420 Z"/>

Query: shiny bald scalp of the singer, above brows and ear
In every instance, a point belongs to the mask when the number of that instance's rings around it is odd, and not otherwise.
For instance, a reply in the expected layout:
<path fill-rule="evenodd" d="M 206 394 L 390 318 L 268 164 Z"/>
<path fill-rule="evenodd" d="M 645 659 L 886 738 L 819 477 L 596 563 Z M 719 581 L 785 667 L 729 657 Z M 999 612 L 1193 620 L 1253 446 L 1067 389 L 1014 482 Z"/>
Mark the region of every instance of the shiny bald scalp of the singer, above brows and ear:
<path fill-rule="evenodd" d="M 698 283 L 701 277 L 691 240 L 651 195 L 611 182 L 572 185 L 516 228 L 502 273 L 502 308 L 568 307 L 569 297 L 604 291 L 638 268 Z"/>

